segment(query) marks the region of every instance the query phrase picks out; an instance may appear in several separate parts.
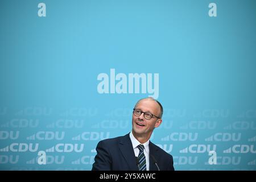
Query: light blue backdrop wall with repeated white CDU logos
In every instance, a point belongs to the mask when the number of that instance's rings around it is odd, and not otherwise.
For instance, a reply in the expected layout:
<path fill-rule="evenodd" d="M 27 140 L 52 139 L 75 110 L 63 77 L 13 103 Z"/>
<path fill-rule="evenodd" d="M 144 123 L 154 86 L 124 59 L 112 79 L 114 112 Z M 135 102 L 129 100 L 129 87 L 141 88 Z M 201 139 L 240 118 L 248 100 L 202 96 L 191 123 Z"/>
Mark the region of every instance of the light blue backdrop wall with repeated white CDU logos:
<path fill-rule="evenodd" d="M 254 0 L 0 9 L 0 169 L 90 170 L 97 143 L 129 133 L 134 104 L 152 95 L 164 114 L 151 141 L 176 170 L 256 169 Z"/>

